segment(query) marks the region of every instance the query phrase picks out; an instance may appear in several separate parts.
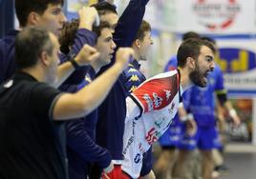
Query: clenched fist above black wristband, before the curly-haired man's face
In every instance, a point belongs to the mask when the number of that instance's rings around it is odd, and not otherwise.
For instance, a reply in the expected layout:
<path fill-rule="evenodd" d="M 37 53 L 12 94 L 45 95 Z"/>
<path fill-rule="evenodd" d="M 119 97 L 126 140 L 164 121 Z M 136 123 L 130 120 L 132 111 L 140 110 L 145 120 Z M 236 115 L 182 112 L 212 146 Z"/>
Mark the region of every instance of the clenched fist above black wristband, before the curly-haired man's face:
<path fill-rule="evenodd" d="M 83 48 L 79 51 L 79 53 L 75 56 L 75 62 L 79 66 L 90 65 L 94 62 L 99 56 L 99 52 L 88 45 L 84 45 Z"/>

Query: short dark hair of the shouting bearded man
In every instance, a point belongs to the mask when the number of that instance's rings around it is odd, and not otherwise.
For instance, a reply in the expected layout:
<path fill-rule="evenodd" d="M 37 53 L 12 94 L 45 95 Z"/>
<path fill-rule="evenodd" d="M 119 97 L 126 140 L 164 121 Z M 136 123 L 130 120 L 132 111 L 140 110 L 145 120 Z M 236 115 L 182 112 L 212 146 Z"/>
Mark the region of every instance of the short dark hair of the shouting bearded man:
<path fill-rule="evenodd" d="M 184 67 L 187 57 L 197 59 L 200 55 L 202 46 L 208 47 L 213 51 L 213 53 L 216 51 L 211 42 L 202 40 L 200 38 L 189 38 L 183 41 L 177 54 L 178 66 L 181 68 Z"/>

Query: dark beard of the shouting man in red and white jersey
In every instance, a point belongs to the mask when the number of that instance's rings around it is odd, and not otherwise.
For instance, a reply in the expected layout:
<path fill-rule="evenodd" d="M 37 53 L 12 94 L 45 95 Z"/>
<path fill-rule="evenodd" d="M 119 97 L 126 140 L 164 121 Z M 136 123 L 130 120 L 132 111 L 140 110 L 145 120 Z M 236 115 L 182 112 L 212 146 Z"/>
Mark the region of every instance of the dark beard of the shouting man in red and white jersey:
<path fill-rule="evenodd" d="M 206 76 L 207 76 L 206 71 L 205 72 L 201 71 L 199 69 L 199 66 L 196 65 L 196 69 L 189 74 L 189 79 L 196 86 L 206 87 L 207 85 L 207 79 L 205 80 Z"/>

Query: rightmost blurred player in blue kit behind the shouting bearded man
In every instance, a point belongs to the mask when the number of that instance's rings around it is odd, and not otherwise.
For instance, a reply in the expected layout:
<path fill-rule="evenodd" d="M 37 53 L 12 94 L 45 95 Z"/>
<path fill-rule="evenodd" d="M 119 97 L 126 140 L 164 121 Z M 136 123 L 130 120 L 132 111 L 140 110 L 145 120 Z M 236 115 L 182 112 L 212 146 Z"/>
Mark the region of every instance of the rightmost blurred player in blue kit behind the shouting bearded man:
<path fill-rule="evenodd" d="M 215 41 L 210 38 L 202 37 L 202 39 L 215 45 Z M 215 94 L 220 105 L 230 111 L 230 117 L 234 122 L 237 125 L 240 123 L 240 118 L 235 109 L 226 98 L 224 76 L 218 65 L 215 65 L 215 69 L 208 75 L 207 79 L 210 83 L 205 88 L 192 87 L 183 95 L 184 107 L 186 111 L 193 114 L 198 130 L 194 135 L 188 135 L 186 133 L 187 127 L 181 124 L 181 141 L 177 146 L 179 154 L 174 169 L 174 177 L 187 177 L 184 175 L 187 170 L 185 166 L 189 162 L 188 160 L 191 158 L 193 151 L 199 148 L 202 154 L 203 179 L 211 178 L 214 168 L 213 149 L 221 146 L 214 115 L 216 107 Z"/>

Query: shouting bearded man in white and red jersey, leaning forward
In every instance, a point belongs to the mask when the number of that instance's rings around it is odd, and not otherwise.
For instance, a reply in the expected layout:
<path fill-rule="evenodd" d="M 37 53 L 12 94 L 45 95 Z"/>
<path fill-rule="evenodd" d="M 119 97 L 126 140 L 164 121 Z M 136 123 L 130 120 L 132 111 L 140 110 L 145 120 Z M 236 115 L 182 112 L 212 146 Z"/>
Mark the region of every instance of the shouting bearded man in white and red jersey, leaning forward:
<path fill-rule="evenodd" d="M 168 129 L 183 91 L 192 84 L 207 85 L 207 75 L 214 69 L 214 52 L 208 41 L 184 41 L 178 50 L 179 70 L 146 80 L 126 98 L 122 171 L 127 178 L 139 178 L 143 153 Z"/>

